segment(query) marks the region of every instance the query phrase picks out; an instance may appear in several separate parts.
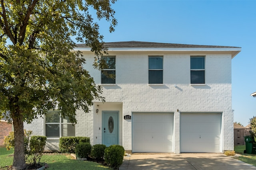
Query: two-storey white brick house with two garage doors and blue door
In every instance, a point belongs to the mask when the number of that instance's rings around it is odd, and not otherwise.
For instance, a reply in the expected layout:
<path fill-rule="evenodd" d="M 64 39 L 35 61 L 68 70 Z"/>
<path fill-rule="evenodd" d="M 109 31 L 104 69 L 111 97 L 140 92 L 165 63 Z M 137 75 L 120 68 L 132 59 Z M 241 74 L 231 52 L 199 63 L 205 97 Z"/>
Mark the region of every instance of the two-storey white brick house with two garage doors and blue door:
<path fill-rule="evenodd" d="M 78 110 L 78 123 L 73 129 L 66 123 L 67 132 L 60 121 L 60 136 L 86 136 L 92 145 L 118 144 L 131 152 L 234 150 L 231 59 L 240 47 L 138 41 L 106 47 L 109 68 L 102 72 L 115 79 L 95 70 L 90 48 L 78 45 L 106 102 L 95 101 L 90 113 Z M 24 128 L 51 136 L 46 121 Z M 48 148 L 58 149 L 58 139 L 48 137 Z"/>

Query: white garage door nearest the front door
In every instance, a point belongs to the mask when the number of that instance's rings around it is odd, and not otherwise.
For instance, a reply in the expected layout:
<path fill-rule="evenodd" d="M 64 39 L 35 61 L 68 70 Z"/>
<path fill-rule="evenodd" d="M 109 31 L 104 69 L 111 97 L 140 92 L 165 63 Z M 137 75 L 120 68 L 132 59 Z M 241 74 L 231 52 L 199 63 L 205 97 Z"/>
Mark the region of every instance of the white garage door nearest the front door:
<path fill-rule="evenodd" d="M 173 152 L 173 113 L 133 113 L 132 152 Z"/>

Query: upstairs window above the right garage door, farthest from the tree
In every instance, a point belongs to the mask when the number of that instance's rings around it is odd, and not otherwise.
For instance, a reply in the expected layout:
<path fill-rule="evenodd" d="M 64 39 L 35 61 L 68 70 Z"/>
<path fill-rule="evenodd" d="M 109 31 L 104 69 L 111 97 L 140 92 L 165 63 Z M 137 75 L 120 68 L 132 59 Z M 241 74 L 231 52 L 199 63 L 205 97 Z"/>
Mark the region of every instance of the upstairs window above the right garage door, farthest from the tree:
<path fill-rule="evenodd" d="M 205 57 L 190 57 L 190 80 L 191 84 L 205 84 Z"/>

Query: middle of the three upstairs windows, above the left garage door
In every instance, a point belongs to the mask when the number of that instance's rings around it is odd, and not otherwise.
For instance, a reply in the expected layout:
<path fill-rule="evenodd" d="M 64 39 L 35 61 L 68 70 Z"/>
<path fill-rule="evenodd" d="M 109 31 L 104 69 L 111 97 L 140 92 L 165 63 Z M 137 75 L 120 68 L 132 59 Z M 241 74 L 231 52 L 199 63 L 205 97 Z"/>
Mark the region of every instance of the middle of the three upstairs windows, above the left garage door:
<path fill-rule="evenodd" d="M 148 57 L 148 83 L 163 84 L 163 57 Z"/>

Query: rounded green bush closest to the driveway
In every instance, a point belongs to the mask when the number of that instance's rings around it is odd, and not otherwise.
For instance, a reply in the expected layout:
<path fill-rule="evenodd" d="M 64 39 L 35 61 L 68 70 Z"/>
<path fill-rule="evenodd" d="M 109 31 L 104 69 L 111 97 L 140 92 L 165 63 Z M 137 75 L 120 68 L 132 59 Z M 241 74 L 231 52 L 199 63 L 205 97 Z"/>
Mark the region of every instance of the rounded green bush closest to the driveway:
<path fill-rule="evenodd" d="M 120 145 L 111 145 L 105 149 L 104 158 L 105 162 L 111 168 L 119 168 L 124 159 L 124 147 Z"/>

